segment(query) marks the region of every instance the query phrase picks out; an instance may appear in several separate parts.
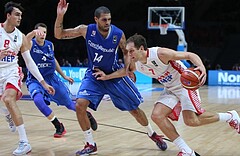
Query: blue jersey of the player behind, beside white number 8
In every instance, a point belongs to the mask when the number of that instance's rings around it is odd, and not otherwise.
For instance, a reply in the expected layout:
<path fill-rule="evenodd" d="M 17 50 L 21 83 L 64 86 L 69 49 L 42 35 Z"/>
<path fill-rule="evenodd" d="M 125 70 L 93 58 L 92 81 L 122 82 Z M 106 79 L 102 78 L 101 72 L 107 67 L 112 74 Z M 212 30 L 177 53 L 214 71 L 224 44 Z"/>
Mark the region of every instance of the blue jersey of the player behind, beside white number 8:
<path fill-rule="evenodd" d="M 52 42 L 45 40 L 44 45 L 40 46 L 37 44 L 36 39 L 32 39 L 30 54 L 43 77 L 55 72 L 56 64 Z M 29 71 L 28 79 L 35 79 Z"/>

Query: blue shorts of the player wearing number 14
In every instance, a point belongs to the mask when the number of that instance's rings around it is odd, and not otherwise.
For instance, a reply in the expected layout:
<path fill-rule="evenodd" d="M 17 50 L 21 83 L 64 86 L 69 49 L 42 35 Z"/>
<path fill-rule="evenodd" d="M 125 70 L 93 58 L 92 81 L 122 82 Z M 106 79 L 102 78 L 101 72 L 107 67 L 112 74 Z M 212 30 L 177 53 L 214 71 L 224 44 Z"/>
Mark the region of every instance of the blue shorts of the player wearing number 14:
<path fill-rule="evenodd" d="M 109 94 L 115 107 L 122 111 L 135 110 L 143 102 L 141 94 L 129 77 L 101 81 L 87 71 L 77 93 L 77 98 L 89 100 L 89 107 L 97 110 L 104 94 Z"/>

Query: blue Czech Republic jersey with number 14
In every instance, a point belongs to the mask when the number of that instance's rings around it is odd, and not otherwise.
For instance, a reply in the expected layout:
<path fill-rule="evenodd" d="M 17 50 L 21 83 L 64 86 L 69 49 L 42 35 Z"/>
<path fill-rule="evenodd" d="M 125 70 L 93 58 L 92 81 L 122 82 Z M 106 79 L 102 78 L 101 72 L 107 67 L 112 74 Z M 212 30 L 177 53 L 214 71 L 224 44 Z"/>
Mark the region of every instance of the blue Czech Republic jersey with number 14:
<path fill-rule="evenodd" d="M 88 71 L 99 68 L 106 74 L 119 68 L 118 44 L 122 37 L 122 30 L 111 25 L 109 35 L 106 38 L 99 33 L 96 24 L 90 24 L 87 28 L 86 45 L 88 51 Z"/>

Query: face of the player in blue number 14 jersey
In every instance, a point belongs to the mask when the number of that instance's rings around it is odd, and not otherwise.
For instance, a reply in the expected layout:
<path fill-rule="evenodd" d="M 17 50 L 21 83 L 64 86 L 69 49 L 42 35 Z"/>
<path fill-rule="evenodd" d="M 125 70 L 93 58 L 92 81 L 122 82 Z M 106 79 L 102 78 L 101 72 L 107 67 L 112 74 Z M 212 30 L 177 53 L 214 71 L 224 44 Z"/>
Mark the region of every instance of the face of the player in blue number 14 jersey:
<path fill-rule="evenodd" d="M 108 32 L 111 25 L 111 14 L 102 13 L 99 18 L 95 17 L 99 31 Z"/>

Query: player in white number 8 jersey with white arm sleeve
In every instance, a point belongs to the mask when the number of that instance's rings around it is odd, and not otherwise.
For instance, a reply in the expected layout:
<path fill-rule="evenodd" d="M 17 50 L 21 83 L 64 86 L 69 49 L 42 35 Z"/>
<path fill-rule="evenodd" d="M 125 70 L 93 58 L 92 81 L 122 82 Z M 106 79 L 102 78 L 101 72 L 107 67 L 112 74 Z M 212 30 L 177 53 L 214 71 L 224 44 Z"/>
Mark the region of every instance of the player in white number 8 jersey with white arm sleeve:
<path fill-rule="evenodd" d="M 8 2 L 5 4 L 6 21 L 0 23 L 0 96 L 7 107 L 8 120 L 14 121 L 19 134 L 19 145 L 13 151 L 13 155 L 26 155 L 31 152 L 31 146 L 28 142 L 24 128 L 22 114 L 16 104 L 20 99 L 21 81 L 23 73 L 18 65 L 18 52 L 20 51 L 29 71 L 50 93 L 55 90 L 48 85 L 40 74 L 36 64 L 30 56 L 28 42 L 25 35 L 16 27 L 20 25 L 23 8 L 20 4 Z"/>

